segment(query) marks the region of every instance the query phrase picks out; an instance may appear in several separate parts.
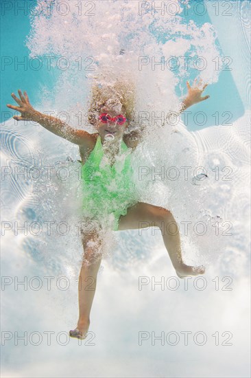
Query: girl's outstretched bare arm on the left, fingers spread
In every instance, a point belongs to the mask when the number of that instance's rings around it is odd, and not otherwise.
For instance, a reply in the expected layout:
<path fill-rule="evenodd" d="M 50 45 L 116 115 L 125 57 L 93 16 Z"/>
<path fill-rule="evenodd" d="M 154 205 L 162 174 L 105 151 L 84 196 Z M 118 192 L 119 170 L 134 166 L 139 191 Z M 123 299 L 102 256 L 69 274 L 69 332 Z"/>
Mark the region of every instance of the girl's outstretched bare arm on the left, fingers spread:
<path fill-rule="evenodd" d="M 45 127 L 45 129 L 51 131 L 51 133 L 69 140 L 69 142 L 78 144 L 79 146 L 86 145 L 93 139 L 92 135 L 87 133 L 87 131 L 73 129 L 59 118 L 36 111 L 29 103 L 29 98 L 25 91 L 22 94 L 19 89 L 19 97 L 20 100 L 14 95 L 14 93 L 12 93 L 12 98 L 14 98 L 17 104 L 19 104 L 19 107 L 10 104 L 7 105 L 10 109 L 14 109 L 21 113 L 20 116 L 14 115 L 14 120 L 38 122 L 41 126 Z"/>

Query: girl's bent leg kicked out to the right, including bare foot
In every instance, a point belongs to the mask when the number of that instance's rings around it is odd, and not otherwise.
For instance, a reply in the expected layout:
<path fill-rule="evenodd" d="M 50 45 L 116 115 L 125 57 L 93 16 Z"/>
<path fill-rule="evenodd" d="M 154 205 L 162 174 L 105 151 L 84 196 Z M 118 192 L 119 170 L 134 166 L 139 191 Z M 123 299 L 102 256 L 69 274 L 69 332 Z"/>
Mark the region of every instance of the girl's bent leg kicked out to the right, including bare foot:
<path fill-rule="evenodd" d="M 150 203 L 138 202 L 128 208 L 126 215 L 121 215 L 119 218 L 119 230 L 136 230 L 145 227 L 160 228 L 165 247 L 178 277 L 197 276 L 204 273 L 204 267 L 184 264 L 178 225 L 169 210 Z"/>

